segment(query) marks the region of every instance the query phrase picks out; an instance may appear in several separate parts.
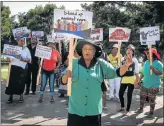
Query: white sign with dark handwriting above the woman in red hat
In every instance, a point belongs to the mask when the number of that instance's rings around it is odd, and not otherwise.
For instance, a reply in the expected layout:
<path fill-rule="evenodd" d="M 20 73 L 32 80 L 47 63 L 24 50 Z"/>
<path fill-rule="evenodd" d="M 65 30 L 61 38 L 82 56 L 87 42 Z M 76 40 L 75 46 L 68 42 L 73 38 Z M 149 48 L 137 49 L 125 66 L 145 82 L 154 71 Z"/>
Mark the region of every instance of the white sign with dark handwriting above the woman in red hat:
<path fill-rule="evenodd" d="M 160 41 L 159 26 L 140 28 L 140 42 Z"/>

